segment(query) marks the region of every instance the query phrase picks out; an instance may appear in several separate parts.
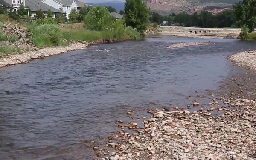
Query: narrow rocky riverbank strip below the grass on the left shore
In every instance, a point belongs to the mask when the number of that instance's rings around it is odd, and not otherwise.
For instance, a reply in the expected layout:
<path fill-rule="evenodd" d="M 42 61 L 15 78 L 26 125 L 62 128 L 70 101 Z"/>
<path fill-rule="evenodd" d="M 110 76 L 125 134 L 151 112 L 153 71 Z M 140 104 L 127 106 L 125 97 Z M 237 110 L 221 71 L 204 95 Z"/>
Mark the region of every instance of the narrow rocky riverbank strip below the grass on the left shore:
<path fill-rule="evenodd" d="M 124 40 L 120 40 L 124 41 Z M 44 49 L 38 49 L 32 46 L 19 46 L 23 53 L 21 54 L 14 54 L 14 55 L 7 55 L 3 58 L 0 58 L 0 67 L 21 64 L 21 63 L 28 63 L 34 59 L 46 58 L 51 55 L 57 55 L 65 52 L 71 52 L 74 50 L 81 50 L 86 49 L 89 45 L 92 44 L 105 44 L 105 43 L 114 43 L 119 42 L 116 39 L 105 39 L 105 40 L 98 40 L 98 41 L 71 41 L 69 46 L 58 46 L 58 47 L 47 47 Z M 29 48 L 28 51 L 26 49 Z"/>

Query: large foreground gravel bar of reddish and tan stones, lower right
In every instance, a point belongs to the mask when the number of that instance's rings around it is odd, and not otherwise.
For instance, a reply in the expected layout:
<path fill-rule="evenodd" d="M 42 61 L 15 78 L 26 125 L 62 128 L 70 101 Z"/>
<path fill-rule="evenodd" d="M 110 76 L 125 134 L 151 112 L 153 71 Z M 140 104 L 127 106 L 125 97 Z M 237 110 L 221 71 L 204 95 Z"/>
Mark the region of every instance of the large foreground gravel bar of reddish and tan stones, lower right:
<path fill-rule="evenodd" d="M 93 147 L 95 160 L 256 160 L 256 99 L 226 96 L 208 105 L 192 113 L 148 109 L 143 127 L 118 121 L 121 130 L 106 147 Z"/>

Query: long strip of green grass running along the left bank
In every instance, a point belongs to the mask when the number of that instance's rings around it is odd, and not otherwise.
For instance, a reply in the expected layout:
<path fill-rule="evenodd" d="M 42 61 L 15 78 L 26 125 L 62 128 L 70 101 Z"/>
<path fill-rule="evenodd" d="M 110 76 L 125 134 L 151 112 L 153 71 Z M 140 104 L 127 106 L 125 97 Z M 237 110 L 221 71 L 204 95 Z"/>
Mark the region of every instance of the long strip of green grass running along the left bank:
<path fill-rule="evenodd" d="M 128 40 L 140 39 L 140 33 L 128 28 L 116 28 L 112 31 L 93 32 L 83 28 L 61 29 L 54 24 L 32 24 L 29 30 L 33 33 L 32 43 L 38 47 L 66 46 L 69 41 L 96 41 L 105 39 Z"/>

